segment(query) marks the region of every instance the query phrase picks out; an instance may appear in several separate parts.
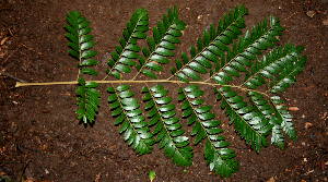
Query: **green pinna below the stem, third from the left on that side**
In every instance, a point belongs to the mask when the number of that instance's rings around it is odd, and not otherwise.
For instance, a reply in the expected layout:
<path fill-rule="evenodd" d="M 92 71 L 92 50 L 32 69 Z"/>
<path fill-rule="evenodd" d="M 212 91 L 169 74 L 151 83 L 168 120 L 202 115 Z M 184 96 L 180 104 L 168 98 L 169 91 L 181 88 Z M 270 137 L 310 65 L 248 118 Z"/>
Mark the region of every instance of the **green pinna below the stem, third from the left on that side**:
<path fill-rule="evenodd" d="M 148 117 L 151 118 L 149 125 L 156 125 L 153 134 L 157 135 L 155 142 L 160 143 L 160 148 L 164 147 L 164 154 L 168 158 L 173 157 L 173 161 L 177 166 L 190 166 L 192 163 L 192 147 L 188 137 L 183 136 L 185 130 L 181 130 L 179 118 L 173 118 L 176 111 L 173 111 L 175 105 L 169 104 L 172 98 L 166 97 L 167 89 L 163 89 L 163 85 L 156 85 L 152 88 L 143 87 L 145 93 L 144 101 L 148 101 L 145 109 L 150 110 Z"/>

